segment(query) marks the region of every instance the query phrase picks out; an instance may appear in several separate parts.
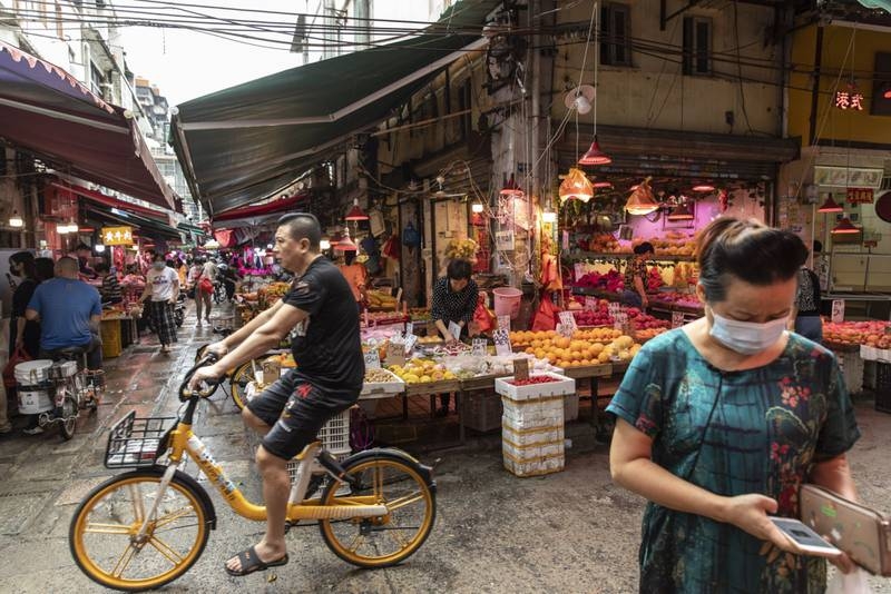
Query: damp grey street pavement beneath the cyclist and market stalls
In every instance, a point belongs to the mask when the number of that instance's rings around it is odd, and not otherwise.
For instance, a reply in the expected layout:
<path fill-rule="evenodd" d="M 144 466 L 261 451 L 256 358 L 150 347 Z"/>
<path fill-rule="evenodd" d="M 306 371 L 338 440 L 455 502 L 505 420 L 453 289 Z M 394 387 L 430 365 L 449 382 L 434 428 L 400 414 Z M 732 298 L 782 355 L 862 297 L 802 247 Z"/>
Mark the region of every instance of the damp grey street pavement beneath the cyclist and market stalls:
<path fill-rule="evenodd" d="M 190 314 L 190 313 L 189 313 Z M 75 565 L 68 526 L 77 504 L 116 474 L 105 468 L 108 428 L 137 416 L 172 416 L 176 388 L 197 345 L 214 338 L 187 315 L 169 355 L 155 338 L 107 362 L 108 392 L 95 415 L 81 415 L 77 435 L 63 442 L 55 429 L 39 436 L 0 437 L 0 592 L 101 592 Z M 862 439 L 850 458 L 861 498 L 891 512 L 891 415 L 858 402 Z M 19 419 L 21 424 L 21 419 Z M 260 501 L 260 479 L 237 409 L 224 395 L 202 406 L 195 423 L 214 457 L 248 498 Z M 212 493 L 218 522 L 204 554 L 163 592 L 601 592 L 637 591 L 637 546 L 644 502 L 609 479 L 607 446 L 590 428 L 567 428 L 574 446 L 562 473 L 516 478 L 503 471 L 499 436 L 473 438 L 463 448 L 417 452 L 437 463 L 437 525 L 403 565 L 358 570 L 332 554 L 315 527 L 288 534 L 291 562 L 265 573 L 229 577 L 223 562 L 252 544 L 263 524 L 236 516 Z M 195 475 L 189 463 L 186 472 Z M 202 485 L 208 486 L 202 477 Z M 872 578 L 874 592 L 891 582 Z"/>

